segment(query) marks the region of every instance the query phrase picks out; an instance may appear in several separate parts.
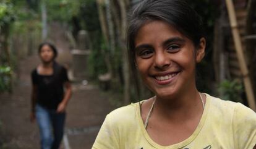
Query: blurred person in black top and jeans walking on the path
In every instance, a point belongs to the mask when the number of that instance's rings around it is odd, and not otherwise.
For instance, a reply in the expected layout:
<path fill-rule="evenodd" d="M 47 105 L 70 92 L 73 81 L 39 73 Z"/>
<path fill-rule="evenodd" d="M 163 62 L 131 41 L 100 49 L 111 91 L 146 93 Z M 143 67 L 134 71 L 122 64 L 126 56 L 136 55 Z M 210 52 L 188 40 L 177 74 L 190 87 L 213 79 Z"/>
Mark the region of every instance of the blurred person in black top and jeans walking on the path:
<path fill-rule="evenodd" d="M 31 121 L 37 121 L 42 149 L 58 149 L 64 134 L 65 109 L 71 96 L 67 70 L 55 59 L 57 49 L 51 43 L 38 48 L 41 64 L 32 71 Z M 65 88 L 65 90 L 64 90 Z"/>

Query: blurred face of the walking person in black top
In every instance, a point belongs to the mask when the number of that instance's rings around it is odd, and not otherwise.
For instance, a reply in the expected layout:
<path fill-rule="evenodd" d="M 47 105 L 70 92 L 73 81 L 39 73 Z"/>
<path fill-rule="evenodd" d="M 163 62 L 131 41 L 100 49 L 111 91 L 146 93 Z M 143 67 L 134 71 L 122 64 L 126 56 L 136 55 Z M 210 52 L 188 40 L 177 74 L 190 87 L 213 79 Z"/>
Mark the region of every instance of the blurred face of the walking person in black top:
<path fill-rule="evenodd" d="M 48 45 L 42 46 L 40 51 L 40 57 L 41 57 L 41 60 L 46 63 L 53 61 L 53 57 L 54 57 L 53 49 L 51 49 L 51 47 Z"/>

